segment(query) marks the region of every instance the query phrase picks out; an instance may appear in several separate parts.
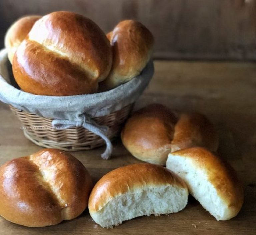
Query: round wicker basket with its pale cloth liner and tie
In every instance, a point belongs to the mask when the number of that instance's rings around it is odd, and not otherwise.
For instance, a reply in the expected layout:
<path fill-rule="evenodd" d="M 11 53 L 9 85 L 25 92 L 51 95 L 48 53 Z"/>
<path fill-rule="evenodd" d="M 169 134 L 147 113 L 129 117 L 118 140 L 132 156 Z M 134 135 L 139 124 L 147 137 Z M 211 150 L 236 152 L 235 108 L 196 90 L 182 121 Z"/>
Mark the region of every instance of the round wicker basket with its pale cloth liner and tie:
<path fill-rule="evenodd" d="M 62 97 L 34 95 L 19 90 L 7 50 L 2 49 L 0 101 L 11 106 L 22 123 L 25 137 L 35 144 L 66 151 L 88 150 L 106 144 L 101 157 L 108 159 L 113 149 L 110 139 L 119 134 L 133 103 L 146 89 L 153 74 L 154 64 L 150 60 L 138 76 L 106 92 Z M 109 114 L 109 110 L 116 111 Z M 92 122 L 91 116 L 97 116 L 92 119 L 98 125 Z"/>

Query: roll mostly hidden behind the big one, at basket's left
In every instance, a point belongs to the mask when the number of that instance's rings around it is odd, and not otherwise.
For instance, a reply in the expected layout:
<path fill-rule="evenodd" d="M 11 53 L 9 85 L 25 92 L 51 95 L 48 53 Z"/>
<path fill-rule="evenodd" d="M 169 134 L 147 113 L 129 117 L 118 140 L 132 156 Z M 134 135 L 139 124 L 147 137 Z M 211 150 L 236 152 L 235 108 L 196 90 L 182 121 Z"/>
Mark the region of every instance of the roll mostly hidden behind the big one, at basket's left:
<path fill-rule="evenodd" d="M 9 61 L 12 64 L 13 56 L 17 50 L 17 47 L 28 35 L 29 31 L 33 27 L 34 23 L 40 19 L 41 16 L 25 16 L 15 21 L 11 27 L 7 30 L 4 45 L 8 52 Z"/>

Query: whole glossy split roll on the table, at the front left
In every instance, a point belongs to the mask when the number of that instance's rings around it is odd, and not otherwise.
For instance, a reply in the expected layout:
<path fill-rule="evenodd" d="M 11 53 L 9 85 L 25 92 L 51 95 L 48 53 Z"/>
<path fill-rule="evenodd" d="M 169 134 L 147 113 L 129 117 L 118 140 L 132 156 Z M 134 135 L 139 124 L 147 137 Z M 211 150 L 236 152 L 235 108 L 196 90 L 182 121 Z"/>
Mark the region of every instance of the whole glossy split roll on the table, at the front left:
<path fill-rule="evenodd" d="M 88 205 L 92 181 L 71 154 L 44 149 L 0 167 L 0 214 L 24 226 L 71 220 Z"/>

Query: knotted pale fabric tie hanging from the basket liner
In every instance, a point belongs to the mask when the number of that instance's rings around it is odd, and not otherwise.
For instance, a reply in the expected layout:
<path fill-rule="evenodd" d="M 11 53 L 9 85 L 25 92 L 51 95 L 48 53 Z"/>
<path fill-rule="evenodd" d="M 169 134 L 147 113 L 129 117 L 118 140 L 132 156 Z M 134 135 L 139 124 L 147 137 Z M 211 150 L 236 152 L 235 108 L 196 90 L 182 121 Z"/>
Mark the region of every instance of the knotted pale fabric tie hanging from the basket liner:
<path fill-rule="evenodd" d="M 109 131 L 109 128 L 107 126 L 98 125 L 86 114 L 83 114 L 82 116 L 80 116 L 79 119 L 76 121 L 59 120 L 59 119 L 54 119 L 52 121 L 52 127 L 59 130 L 67 129 L 74 126 L 75 127 L 82 126 L 85 129 L 94 133 L 95 135 L 100 136 L 106 142 L 106 150 L 104 153 L 101 154 L 101 157 L 105 160 L 110 158 L 112 154 L 113 146 L 110 139 L 107 137 L 107 133 Z"/>

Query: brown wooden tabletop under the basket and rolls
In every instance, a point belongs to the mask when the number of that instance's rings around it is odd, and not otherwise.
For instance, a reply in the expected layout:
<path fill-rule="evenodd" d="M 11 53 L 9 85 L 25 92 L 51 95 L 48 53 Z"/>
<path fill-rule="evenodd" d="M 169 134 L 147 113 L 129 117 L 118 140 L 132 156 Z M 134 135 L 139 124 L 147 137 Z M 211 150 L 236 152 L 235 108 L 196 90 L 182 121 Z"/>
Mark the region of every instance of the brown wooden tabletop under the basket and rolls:
<path fill-rule="evenodd" d="M 235 62 L 155 61 L 155 75 L 136 103 L 162 103 L 176 110 L 195 110 L 207 115 L 220 135 L 219 153 L 237 171 L 244 185 L 244 205 L 235 218 L 216 221 L 192 197 L 187 207 L 175 214 L 144 216 L 126 221 L 114 229 L 94 223 L 88 209 L 76 219 L 45 228 L 27 228 L 0 217 L 2 235 L 255 235 L 256 234 L 256 65 Z M 74 152 L 96 182 L 120 166 L 140 162 L 113 142 L 110 160 L 102 160 L 104 147 Z M 40 150 L 27 140 L 8 106 L 0 103 L 0 165 Z M 1 202 L 0 202 L 1 203 Z"/>

